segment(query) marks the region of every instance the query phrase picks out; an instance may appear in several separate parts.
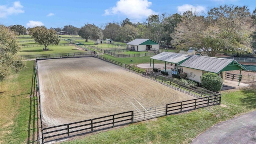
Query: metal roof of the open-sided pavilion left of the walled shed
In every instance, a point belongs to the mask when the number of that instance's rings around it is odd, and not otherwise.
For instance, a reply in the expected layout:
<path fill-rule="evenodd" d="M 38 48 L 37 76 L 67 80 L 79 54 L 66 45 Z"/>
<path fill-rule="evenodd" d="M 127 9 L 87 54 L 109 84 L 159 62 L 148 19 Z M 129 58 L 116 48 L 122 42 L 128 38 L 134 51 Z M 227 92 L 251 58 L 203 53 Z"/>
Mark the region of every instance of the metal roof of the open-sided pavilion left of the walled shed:
<path fill-rule="evenodd" d="M 180 64 L 180 62 L 190 58 L 190 56 L 187 54 L 180 54 L 180 53 L 174 53 L 174 52 L 162 52 L 160 54 L 152 56 L 151 58 L 154 60 L 162 60 L 165 62 Z"/>

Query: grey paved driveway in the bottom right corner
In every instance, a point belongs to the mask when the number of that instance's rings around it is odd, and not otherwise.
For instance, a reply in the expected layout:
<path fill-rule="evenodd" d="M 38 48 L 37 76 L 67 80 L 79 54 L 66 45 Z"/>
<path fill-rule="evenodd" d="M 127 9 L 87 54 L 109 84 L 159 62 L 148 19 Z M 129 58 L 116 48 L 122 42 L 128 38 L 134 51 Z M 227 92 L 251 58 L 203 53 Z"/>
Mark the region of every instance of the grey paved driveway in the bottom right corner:
<path fill-rule="evenodd" d="M 216 124 L 192 144 L 256 144 L 256 111 Z"/>

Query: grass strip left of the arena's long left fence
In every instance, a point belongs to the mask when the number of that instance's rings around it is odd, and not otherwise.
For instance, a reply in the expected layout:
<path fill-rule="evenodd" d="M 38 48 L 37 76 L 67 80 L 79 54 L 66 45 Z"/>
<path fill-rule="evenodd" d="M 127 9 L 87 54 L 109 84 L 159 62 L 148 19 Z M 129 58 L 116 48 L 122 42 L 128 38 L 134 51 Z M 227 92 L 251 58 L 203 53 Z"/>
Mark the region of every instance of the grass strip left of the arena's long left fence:
<path fill-rule="evenodd" d="M 36 141 L 36 97 L 32 78 L 34 61 L 0 82 L 0 143 L 25 144 Z M 33 97 L 30 98 L 30 95 Z"/>

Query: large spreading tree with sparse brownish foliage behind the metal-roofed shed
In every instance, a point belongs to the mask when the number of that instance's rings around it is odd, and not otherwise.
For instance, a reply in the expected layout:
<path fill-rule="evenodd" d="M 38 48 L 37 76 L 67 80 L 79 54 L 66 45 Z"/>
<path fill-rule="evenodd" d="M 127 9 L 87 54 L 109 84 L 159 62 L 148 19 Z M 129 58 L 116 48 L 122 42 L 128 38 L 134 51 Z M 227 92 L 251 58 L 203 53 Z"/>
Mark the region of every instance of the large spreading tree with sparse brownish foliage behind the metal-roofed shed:
<path fill-rule="evenodd" d="M 253 20 L 246 6 L 220 6 L 197 16 L 188 11 L 183 14 L 172 44 L 179 49 L 204 50 L 208 56 L 217 52 L 251 52 Z"/>

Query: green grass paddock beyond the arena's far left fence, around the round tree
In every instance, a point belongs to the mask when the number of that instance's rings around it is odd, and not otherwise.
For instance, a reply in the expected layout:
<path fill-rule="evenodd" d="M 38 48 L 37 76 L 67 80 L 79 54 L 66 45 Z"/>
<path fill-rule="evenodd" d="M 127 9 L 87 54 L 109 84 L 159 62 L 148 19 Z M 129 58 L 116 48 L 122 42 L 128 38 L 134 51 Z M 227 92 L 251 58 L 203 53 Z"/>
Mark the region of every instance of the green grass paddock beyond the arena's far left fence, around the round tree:
<path fill-rule="evenodd" d="M 76 46 L 48 46 L 49 50 L 44 51 L 44 46 L 22 48 L 20 52 L 17 53 L 18 56 L 23 55 L 34 55 L 34 54 L 59 54 L 59 53 L 73 53 L 73 52 L 86 52 L 84 50 L 76 50 Z"/>

